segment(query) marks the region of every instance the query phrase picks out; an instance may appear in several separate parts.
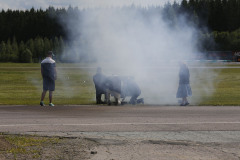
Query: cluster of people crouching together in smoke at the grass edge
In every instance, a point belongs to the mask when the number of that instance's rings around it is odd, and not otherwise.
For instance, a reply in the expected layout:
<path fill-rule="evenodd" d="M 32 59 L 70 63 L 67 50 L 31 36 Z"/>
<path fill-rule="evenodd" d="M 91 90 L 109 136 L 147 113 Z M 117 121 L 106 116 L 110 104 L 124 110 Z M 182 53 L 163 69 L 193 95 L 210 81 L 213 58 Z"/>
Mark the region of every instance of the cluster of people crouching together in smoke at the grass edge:
<path fill-rule="evenodd" d="M 137 83 L 131 77 L 105 76 L 100 67 L 93 76 L 93 82 L 96 89 L 97 104 L 111 104 L 110 95 L 115 98 L 117 105 L 127 103 L 126 97 L 131 97 L 129 104 L 144 103 L 143 98 L 137 99 L 141 94 L 141 90 Z M 104 95 L 104 100 L 102 100 Z"/>

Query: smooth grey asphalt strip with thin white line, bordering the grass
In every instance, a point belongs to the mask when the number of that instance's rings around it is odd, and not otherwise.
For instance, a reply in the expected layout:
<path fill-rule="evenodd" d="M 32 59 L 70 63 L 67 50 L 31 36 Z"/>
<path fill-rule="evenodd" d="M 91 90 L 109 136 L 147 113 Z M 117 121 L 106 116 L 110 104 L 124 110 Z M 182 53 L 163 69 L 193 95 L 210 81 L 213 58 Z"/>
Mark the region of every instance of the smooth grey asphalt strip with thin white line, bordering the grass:
<path fill-rule="evenodd" d="M 1 131 L 240 131 L 240 107 L 0 106 Z"/>

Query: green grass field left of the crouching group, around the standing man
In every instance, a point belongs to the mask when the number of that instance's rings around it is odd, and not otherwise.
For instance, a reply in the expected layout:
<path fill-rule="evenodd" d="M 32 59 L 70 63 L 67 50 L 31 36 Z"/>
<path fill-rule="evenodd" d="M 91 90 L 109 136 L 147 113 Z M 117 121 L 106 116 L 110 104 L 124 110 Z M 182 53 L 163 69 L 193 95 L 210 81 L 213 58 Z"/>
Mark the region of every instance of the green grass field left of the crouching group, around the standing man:
<path fill-rule="evenodd" d="M 89 72 L 75 68 L 75 64 L 57 64 L 57 67 L 55 104 L 95 103 L 95 88 Z M 95 68 L 92 71 L 94 73 Z M 0 90 L 1 105 L 39 105 L 42 92 L 40 64 L 1 63 Z M 45 102 L 48 102 L 48 93 Z"/>

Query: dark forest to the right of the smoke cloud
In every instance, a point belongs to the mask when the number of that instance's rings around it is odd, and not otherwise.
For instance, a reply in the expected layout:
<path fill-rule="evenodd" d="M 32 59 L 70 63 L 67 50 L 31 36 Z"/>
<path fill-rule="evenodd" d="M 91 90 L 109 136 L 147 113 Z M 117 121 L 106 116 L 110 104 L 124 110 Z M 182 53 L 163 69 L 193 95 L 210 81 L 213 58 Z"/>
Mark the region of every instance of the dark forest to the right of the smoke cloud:
<path fill-rule="evenodd" d="M 182 0 L 165 9 L 185 14 L 199 29 L 201 51 L 240 51 L 240 0 Z"/>

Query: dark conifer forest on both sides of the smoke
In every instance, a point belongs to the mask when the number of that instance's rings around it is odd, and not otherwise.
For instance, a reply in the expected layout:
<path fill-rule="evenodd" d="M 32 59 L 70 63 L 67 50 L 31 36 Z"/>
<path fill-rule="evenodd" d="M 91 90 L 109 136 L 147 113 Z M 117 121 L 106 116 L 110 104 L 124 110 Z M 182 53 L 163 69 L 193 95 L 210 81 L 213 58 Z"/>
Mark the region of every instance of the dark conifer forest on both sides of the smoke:
<path fill-rule="evenodd" d="M 118 8 L 119 9 L 119 8 Z M 151 16 L 158 13 L 174 26 L 174 22 L 185 15 L 189 25 L 199 30 L 198 49 L 206 51 L 240 51 L 240 0 L 182 0 L 181 3 L 164 6 L 122 7 L 121 10 L 138 10 Z M 39 62 L 48 50 L 63 61 L 68 43 L 67 29 L 61 18 L 81 15 L 90 9 L 34 8 L 30 10 L 2 10 L 0 12 L 0 62 Z M 79 17 L 75 17 L 79 20 Z M 214 43 L 213 43 L 214 42 Z"/>

